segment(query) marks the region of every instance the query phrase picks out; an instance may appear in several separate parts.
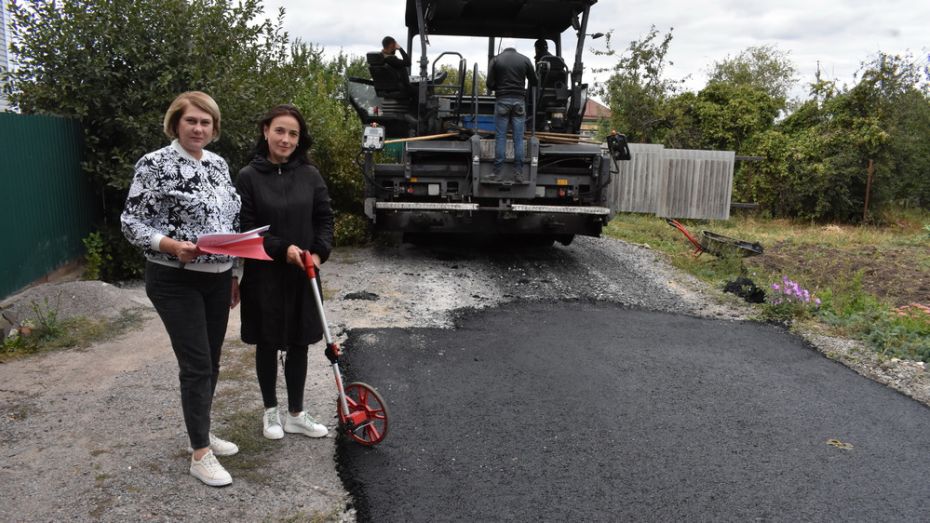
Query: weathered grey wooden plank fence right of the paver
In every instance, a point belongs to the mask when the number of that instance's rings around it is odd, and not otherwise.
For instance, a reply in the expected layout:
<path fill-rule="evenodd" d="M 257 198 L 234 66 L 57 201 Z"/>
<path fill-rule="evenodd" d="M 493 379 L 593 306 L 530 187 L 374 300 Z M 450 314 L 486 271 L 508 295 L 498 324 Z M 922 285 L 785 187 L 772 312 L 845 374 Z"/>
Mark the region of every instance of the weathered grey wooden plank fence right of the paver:
<path fill-rule="evenodd" d="M 615 212 L 663 218 L 726 220 L 733 193 L 733 151 L 666 149 L 630 144 L 632 159 L 619 162 L 610 184 Z"/>

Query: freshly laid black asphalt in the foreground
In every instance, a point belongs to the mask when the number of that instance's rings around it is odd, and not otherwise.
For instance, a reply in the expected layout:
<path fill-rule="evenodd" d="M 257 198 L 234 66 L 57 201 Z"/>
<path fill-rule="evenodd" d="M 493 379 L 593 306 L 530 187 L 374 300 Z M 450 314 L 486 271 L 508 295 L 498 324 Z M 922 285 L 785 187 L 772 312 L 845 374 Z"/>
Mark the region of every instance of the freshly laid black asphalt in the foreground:
<path fill-rule="evenodd" d="M 390 408 L 339 444 L 359 521 L 930 517 L 930 409 L 773 326 L 517 303 L 346 348 Z"/>

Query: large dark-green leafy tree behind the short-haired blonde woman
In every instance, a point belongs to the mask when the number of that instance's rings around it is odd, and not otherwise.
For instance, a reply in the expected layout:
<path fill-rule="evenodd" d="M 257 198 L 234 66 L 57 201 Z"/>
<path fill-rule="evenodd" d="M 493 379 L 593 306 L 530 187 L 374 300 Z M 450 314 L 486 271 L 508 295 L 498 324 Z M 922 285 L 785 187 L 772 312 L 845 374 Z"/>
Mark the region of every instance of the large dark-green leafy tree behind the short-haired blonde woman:
<path fill-rule="evenodd" d="M 255 22 L 258 0 L 13 0 L 9 14 L 11 102 L 27 114 L 80 120 L 84 170 L 111 219 L 136 160 L 165 144 L 161 122 L 176 95 L 201 90 L 216 99 L 222 135 L 210 147 L 236 173 L 257 117 L 300 85 L 286 67 L 283 11 Z"/>

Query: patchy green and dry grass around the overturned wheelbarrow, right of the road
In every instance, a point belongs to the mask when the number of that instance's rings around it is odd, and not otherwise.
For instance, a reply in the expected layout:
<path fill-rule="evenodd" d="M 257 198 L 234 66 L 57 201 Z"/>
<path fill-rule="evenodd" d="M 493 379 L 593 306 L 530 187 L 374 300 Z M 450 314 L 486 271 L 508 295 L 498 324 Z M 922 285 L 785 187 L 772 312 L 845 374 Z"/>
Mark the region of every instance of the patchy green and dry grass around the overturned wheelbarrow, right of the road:
<path fill-rule="evenodd" d="M 692 255 L 678 230 L 661 218 L 619 215 L 605 234 L 665 253 L 671 264 L 716 288 L 743 276 L 766 290 L 759 318 L 809 322 L 829 334 L 867 342 L 886 357 L 930 363 L 930 314 L 909 304 L 930 299 L 930 213 L 879 216 L 880 225 L 849 226 L 735 216 L 684 221 L 692 235 L 709 230 L 765 248 L 763 256 Z M 784 277 L 822 300 L 776 304 Z"/>

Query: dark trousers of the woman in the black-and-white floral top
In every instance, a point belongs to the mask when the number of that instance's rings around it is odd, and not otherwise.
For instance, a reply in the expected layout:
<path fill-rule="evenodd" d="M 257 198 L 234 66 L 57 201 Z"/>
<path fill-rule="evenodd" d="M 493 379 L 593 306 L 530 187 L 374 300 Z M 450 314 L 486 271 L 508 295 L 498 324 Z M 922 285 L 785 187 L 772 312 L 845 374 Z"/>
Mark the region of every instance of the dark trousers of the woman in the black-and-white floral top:
<path fill-rule="evenodd" d="M 210 409 L 229 320 L 232 271 L 207 273 L 146 263 L 145 292 L 178 359 L 181 408 L 191 447 L 210 446 Z"/>

